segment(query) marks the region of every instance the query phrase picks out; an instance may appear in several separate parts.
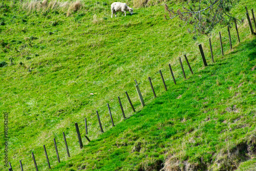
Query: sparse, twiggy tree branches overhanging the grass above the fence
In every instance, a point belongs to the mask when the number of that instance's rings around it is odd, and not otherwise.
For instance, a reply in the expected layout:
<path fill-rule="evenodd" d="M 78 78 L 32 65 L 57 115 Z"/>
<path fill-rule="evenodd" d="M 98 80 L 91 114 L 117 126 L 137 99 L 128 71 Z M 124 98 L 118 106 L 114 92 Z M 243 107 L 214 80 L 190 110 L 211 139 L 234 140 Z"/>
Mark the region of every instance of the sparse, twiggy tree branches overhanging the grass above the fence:
<path fill-rule="evenodd" d="M 234 20 L 241 23 L 238 18 L 230 14 L 232 6 L 238 3 L 239 0 L 187 0 L 182 10 L 175 11 L 166 4 L 165 10 L 168 11 L 170 19 L 179 17 L 186 24 L 193 25 L 192 32 L 207 34 L 217 24 L 227 26 Z"/>

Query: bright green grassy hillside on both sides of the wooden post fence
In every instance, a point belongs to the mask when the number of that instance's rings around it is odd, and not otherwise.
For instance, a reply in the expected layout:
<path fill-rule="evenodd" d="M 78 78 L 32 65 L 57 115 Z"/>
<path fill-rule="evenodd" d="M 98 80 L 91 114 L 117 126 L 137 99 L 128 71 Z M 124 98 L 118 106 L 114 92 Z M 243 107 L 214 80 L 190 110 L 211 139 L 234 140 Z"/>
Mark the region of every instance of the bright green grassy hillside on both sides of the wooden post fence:
<path fill-rule="evenodd" d="M 245 18 L 245 2 L 248 9 L 256 6 L 254 1 L 241 1 L 233 9 L 237 17 Z M 58 10 L 28 12 L 18 3 L 0 8 L 0 61 L 4 63 L 0 111 L 9 113 L 8 154 L 14 170 L 19 169 L 18 160 L 25 170 L 34 170 L 31 152 L 39 170 L 48 170 L 44 144 L 52 170 L 159 170 L 164 165 L 166 170 L 233 170 L 241 162 L 240 170 L 255 169 L 256 41 L 247 22 L 239 25 L 241 44 L 231 28 L 231 51 L 226 28 L 212 32 L 216 63 L 211 63 L 208 37 L 193 37 L 178 20 L 165 20 L 161 5 L 111 18 L 112 2 L 87 3 L 69 17 Z M 225 56 L 221 56 L 218 31 L 222 31 Z M 198 44 L 203 45 L 208 67 L 203 67 Z M 189 74 L 183 60 L 185 81 L 177 59 L 183 54 L 195 73 Z M 176 86 L 168 63 L 175 71 Z M 153 78 L 157 99 L 148 76 Z M 135 78 L 146 103 L 143 110 Z M 136 111 L 141 110 L 137 114 L 133 115 L 125 91 Z M 125 121 L 117 96 L 126 116 L 133 115 Z M 106 103 L 116 124 L 113 129 Z M 84 138 L 84 118 L 90 143 Z M 75 122 L 80 126 L 82 150 Z M 2 164 L 0 169 L 7 170 Z"/>

